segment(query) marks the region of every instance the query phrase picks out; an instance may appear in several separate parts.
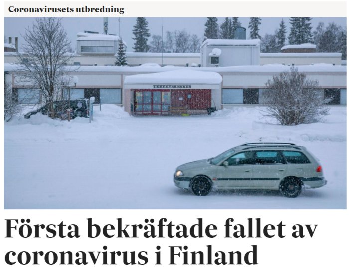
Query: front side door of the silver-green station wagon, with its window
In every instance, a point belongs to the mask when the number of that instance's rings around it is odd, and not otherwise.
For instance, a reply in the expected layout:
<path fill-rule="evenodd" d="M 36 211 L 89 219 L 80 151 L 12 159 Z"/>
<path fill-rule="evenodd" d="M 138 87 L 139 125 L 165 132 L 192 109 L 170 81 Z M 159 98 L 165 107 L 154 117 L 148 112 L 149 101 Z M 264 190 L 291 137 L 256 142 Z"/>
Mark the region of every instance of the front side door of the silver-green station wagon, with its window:
<path fill-rule="evenodd" d="M 228 158 L 217 168 L 217 187 L 221 189 L 250 188 L 255 166 L 254 159 L 253 151 L 239 152 Z"/>

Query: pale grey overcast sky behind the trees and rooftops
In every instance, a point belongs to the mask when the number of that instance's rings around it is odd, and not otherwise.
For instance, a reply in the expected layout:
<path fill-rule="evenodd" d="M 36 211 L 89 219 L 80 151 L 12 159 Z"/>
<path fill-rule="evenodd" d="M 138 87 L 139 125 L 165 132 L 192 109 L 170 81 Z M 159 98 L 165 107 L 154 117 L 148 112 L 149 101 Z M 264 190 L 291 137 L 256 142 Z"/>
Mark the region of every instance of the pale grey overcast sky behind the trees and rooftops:
<path fill-rule="evenodd" d="M 196 34 L 199 38 L 203 37 L 205 22 L 207 21 L 206 17 L 195 17 L 195 18 L 146 18 L 149 25 L 149 31 L 151 35 L 162 34 L 162 26 L 164 29 L 164 39 L 166 31 L 175 31 L 175 30 L 183 30 L 185 29 L 190 34 Z M 263 37 L 266 33 L 273 34 L 275 29 L 279 27 L 280 21 L 282 18 L 280 17 L 262 17 L 262 24 L 260 25 L 259 34 Z M 286 26 L 287 26 L 287 34 L 289 34 L 289 18 L 283 18 Z M 224 18 L 218 18 L 218 23 L 221 24 Z M 247 29 L 247 39 L 249 38 L 248 31 L 248 17 L 240 17 L 241 26 Z M 21 35 L 25 33 L 25 28 L 31 26 L 34 21 L 34 18 L 4 18 L 4 35 L 6 37 L 6 42 L 8 42 L 9 36 L 18 36 L 19 37 L 19 47 L 22 43 Z M 333 17 L 333 18 L 316 18 L 312 19 L 312 27 L 315 30 L 318 23 L 322 21 L 327 25 L 330 22 L 335 22 L 339 24 L 343 28 L 346 27 L 346 18 L 341 17 Z M 132 28 L 135 25 L 136 18 L 127 18 L 123 17 L 120 19 L 120 29 L 121 36 L 123 40 L 127 43 L 127 51 L 133 51 L 132 47 L 134 46 L 134 40 L 132 39 Z M 110 17 L 108 18 L 109 24 L 109 33 L 118 34 L 119 35 L 119 21 L 118 18 Z M 76 48 L 76 33 L 83 32 L 84 30 L 88 31 L 96 31 L 99 33 L 103 33 L 103 17 L 95 17 L 95 18 L 62 18 L 62 25 L 67 31 L 68 38 L 71 40 L 71 46 L 73 49 Z M 148 40 L 148 43 L 151 41 L 151 37 Z"/>

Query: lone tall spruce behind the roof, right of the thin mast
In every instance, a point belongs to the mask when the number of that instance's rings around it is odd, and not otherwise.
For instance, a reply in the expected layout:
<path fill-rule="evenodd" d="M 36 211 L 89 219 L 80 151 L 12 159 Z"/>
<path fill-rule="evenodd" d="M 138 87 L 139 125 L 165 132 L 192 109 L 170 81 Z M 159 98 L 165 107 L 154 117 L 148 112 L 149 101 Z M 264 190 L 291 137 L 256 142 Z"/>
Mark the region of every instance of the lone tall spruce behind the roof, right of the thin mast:
<path fill-rule="evenodd" d="M 135 40 L 133 49 L 135 52 L 147 52 L 149 46 L 147 44 L 148 37 L 150 37 L 148 29 L 148 21 L 144 17 L 137 17 L 136 24 L 133 26 L 132 33 L 134 34 L 133 40 Z"/>

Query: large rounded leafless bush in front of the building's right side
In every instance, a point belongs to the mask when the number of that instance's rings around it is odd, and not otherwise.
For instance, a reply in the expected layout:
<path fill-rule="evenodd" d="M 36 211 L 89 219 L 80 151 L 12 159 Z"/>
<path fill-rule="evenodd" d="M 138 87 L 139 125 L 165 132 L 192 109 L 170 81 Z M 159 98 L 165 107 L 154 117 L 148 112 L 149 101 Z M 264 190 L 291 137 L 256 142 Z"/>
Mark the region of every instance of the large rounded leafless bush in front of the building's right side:
<path fill-rule="evenodd" d="M 318 81 L 307 79 L 304 73 L 291 67 L 266 83 L 263 101 L 265 116 L 276 118 L 282 125 L 298 125 L 318 122 L 328 115 L 329 108 L 323 106 L 331 101 L 324 98 Z"/>

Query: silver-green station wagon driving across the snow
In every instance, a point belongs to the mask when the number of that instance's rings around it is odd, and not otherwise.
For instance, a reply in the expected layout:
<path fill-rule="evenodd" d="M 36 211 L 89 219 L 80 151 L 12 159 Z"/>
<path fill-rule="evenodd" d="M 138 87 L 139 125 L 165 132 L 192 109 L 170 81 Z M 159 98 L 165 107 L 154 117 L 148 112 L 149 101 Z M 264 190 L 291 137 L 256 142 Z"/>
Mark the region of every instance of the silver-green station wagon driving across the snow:
<path fill-rule="evenodd" d="M 174 184 L 196 195 L 213 190 L 280 190 L 297 197 L 302 187 L 326 184 L 320 163 L 305 147 L 291 143 L 249 143 L 218 156 L 180 165 Z"/>

